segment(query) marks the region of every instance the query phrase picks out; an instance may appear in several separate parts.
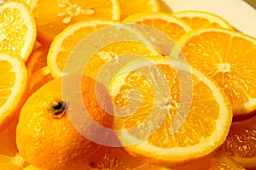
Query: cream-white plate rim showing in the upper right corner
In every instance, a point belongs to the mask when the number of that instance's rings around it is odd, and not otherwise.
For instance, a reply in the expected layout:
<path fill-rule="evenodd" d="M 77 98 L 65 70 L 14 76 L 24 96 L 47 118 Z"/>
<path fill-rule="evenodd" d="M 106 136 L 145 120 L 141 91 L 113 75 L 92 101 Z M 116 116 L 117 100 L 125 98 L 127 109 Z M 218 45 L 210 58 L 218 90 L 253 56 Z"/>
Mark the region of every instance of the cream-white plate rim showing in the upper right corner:
<path fill-rule="evenodd" d="M 165 11 L 203 10 L 218 14 L 237 30 L 256 37 L 256 10 L 242 0 L 160 0 Z"/>

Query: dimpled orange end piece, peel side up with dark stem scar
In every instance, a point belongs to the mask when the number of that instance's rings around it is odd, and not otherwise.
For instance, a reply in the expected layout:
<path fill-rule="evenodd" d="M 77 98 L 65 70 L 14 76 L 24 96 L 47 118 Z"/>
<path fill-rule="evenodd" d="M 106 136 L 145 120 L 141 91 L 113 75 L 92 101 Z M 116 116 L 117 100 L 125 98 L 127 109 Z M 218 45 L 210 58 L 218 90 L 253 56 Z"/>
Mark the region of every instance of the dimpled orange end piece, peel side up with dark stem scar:
<path fill-rule="evenodd" d="M 96 95 L 96 83 L 99 84 L 90 77 L 82 77 L 81 82 L 73 83 L 73 86 L 80 87 L 82 101 L 90 118 L 102 127 L 112 127 L 113 116 L 106 112 L 112 111 L 111 99 L 101 84 L 101 93 Z M 73 126 L 68 108 L 75 105 L 76 101 L 68 96 L 66 99 L 69 101 L 63 100 L 63 94 L 73 96 L 73 92 L 63 93 L 62 88 L 62 78 L 44 84 L 27 99 L 20 111 L 16 128 L 17 147 L 20 156 L 35 167 L 53 170 L 69 167 L 80 158 L 90 156 L 99 147 L 99 144 L 86 139 L 75 128 L 82 127 L 98 138 L 102 135 L 92 126 L 90 119 L 84 118 L 83 108 L 75 110 L 75 114 L 81 116 L 77 118 L 80 120 L 78 124 Z M 102 102 L 99 103 L 98 99 Z"/>

